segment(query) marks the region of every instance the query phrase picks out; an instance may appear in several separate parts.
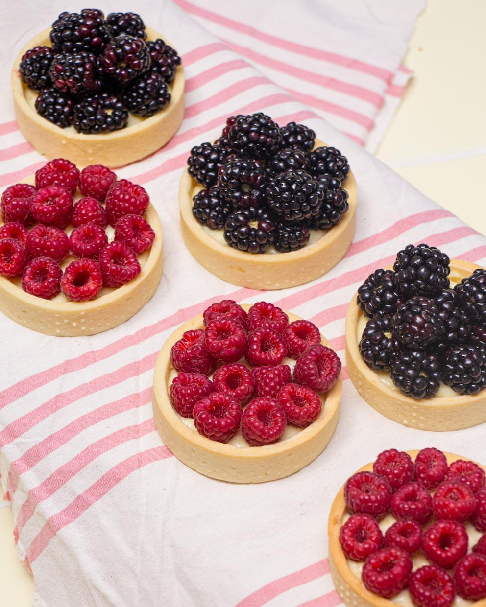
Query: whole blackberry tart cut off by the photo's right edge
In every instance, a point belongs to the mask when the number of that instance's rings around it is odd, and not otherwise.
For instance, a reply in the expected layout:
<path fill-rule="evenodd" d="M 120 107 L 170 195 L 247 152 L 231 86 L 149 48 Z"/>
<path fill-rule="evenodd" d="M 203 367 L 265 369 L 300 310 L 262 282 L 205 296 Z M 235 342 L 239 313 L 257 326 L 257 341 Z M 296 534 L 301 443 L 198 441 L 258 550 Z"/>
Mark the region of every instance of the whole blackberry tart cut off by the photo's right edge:
<path fill-rule="evenodd" d="M 406 246 L 349 305 L 346 364 L 355 388 L 379 413 L 412 428 L 482 424 L 483 302 L 486 270 L 426 243 Z"/>

